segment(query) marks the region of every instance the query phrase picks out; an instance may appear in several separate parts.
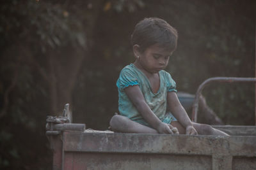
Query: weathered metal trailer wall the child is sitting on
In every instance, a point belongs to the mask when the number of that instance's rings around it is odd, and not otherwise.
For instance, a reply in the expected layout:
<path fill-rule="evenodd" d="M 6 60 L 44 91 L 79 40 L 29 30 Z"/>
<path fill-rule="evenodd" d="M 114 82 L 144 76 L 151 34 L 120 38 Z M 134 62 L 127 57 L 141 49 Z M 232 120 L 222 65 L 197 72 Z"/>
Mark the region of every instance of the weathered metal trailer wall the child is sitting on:
<path fill-rule="evenodd" d="M 244 136 L 93 133 L 66 129 L 49 135 L 53 169 L 256 169 L 256 127 L 217 128 Z"/>

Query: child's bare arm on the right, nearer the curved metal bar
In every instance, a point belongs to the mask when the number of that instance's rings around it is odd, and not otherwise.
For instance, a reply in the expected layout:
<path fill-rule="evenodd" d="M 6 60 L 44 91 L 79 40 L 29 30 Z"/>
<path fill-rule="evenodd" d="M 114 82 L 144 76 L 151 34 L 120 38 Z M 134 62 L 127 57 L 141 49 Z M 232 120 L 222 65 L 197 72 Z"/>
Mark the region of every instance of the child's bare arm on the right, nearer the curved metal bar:
<path fill-rule="evenodd" d="M 168 92 L 167 104 L 173 116 L 177 118 L 180 124 L 182 124 L 182 126 L 186 129 L 186 134 L 197 134 L 190 118 L 188 117 L 188 114 L 186 113 L 186 110 L 184 110 L 183 106 L 180 104 L 175 92 Z"/>

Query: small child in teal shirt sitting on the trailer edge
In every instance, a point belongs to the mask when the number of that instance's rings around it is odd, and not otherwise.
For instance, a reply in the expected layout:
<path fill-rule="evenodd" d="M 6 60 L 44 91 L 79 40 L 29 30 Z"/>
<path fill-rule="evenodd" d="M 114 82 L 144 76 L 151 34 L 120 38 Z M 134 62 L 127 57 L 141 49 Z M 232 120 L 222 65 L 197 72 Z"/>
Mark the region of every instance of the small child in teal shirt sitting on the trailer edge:
<path fill-rule="evenodd" d="M 228 136 L 210 125 L 191 122 L 180 104 L 175 81 L 163 71 L 176 49 L 177 39 L 177 31 L 160 18 L 145 18 L 135 26 L 131 37 L 135 62 L 122 69 L 116 82 L 120 115 L 111 118 L 111 129 Z"/>

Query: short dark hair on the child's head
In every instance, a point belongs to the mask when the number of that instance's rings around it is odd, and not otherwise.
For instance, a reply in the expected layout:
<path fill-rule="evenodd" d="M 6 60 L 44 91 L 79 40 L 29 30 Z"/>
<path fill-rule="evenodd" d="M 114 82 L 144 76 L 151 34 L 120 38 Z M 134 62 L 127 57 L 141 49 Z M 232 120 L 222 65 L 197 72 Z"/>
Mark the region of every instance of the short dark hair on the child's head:
<path fill-rule="evenodd" d="M 158 44 L 163 48 L 175 50 L 177 46 L 178 32 L 165 20 L 160 18 L 145 18 L 136 24 L 131 36 L 133 45 L 140 45 L 140 52 L 144 52 L 149 46 Z"/>

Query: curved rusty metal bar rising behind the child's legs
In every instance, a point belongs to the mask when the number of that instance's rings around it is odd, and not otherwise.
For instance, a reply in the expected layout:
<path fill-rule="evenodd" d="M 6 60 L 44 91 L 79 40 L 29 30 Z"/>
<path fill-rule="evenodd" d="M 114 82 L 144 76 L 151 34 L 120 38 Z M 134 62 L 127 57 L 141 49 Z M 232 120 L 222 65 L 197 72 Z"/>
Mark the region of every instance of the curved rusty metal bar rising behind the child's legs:
<path fill-rule="evenodd" d="M 201 95 L 202 90 L 206 85 L 212 82 L 223 82 L 223 83 L 234 83 L 234 82 L 255 82 L 256 83 L 256 78 L 242 78 L 242 77 L 213 77 L 213 78 L 208 78 L 205 80 L 197 89 L 196 91 L 196 96 L 195 96 L 195 101 L 193 104 L 193 110 L 192 110 L 192 122 L 197 122 L 197 117 L 198 117 L 198 103 L 199 103 L 199 97 Z"/>

